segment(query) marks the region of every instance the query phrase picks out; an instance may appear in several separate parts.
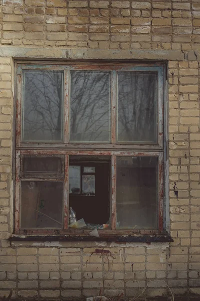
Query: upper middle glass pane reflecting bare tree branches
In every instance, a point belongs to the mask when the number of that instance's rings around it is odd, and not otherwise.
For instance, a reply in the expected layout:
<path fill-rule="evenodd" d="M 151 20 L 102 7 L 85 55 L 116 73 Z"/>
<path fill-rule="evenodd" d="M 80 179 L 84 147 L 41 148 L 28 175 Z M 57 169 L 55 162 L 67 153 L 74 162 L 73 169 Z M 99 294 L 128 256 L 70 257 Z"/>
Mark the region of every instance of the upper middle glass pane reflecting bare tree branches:
<path fill-rule="evenodd" d="M 110 141 L 110 72 L 70 73 L 70 141 Z"/>

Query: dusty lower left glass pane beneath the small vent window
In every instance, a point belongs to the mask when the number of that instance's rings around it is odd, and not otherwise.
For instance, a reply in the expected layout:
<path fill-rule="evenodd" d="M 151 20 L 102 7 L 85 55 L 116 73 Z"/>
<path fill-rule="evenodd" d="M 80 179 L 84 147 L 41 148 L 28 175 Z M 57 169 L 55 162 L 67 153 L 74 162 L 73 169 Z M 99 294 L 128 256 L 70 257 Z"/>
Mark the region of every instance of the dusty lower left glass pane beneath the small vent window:
<path fill-rule="evenodd" d="M 62 182 L 21 181 L 20 227 L 62 228 Z"/>

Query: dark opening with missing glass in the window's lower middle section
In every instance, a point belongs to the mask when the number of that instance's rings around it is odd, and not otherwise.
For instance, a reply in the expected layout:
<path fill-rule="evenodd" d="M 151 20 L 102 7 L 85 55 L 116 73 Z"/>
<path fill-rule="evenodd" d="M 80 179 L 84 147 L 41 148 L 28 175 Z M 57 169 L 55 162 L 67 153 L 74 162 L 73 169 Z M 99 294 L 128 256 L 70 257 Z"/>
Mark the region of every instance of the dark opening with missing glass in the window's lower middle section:
<path fill-rule="evenodd" d="M 71 156 L 69 160 L 69 208 L 86 228 L 109 228 L 110 160 L 92 157 Z"/>

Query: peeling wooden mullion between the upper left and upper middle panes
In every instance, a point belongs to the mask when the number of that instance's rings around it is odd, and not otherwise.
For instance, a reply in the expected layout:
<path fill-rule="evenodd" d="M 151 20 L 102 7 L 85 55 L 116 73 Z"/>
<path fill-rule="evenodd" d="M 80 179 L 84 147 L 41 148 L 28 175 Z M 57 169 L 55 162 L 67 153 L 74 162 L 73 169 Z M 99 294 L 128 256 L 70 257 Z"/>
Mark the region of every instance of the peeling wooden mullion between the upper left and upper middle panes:
<path fill-rule="evenodd" d="M 64 69 L 64 96 L 63 96 L 63 110 L 64 110 L 64 143 L 69 141 L 69 70 Z"/>

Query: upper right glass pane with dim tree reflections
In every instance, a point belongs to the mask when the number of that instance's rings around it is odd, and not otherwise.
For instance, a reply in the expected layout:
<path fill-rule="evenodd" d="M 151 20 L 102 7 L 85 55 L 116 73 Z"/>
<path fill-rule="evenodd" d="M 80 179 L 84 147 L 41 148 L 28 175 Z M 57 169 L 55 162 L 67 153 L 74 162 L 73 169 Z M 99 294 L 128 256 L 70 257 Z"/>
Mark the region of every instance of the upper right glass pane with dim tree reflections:
<path fill-rule="evenodd" d="M 156 142 L 156 75 L 118 72 L 118 142 Z"/>

